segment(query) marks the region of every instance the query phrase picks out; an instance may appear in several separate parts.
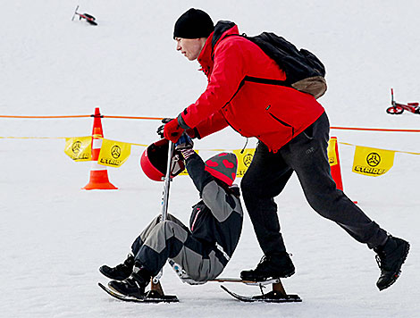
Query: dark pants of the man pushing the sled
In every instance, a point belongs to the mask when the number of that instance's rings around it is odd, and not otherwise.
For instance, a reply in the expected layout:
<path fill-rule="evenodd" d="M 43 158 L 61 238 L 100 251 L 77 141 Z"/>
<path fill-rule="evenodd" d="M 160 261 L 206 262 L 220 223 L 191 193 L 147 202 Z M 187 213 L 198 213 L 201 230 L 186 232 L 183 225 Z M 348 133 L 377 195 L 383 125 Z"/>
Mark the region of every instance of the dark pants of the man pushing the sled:
<path fill-rule="evenodd" d="M 326 113 L 277 153 L 262 142 L 241 181 L 242 195 L 256 238 L 265 255 L 286 251 L 277 216 L 277 197 L 293 172 L 307 202 L 323 217 L 332 220 L 368 247 L 382 245 L 387 233 L 370 220 L 332 180 L 327 147 L 330 123 Z"/>

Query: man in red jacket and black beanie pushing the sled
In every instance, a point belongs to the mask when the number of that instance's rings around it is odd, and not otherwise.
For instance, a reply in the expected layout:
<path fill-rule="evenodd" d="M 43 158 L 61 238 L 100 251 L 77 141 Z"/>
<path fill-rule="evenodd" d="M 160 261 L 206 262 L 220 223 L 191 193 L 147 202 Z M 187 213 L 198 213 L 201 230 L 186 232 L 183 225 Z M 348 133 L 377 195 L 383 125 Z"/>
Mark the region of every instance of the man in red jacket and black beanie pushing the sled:
<path fill-rule="evenodd" d="M 241 189 L 265 256 L 255 270 L 243 271 L 240 277 L 267 280 L 295 272 L 281 237 L 274 197 L 296 172 L 317 213 L 374 249 L 381 269 L 376 285 L 388 288 L 399 277 L 408 242 L 388 235 L 336 188 L 327 157 L 330 123 L 315 97 L 247 80 L 284 80 L 286 74 L 260 47 L 238 35 L 235 23 L 219 21 L 214 26 L 208 14 L 197 9 L 189 9 L 176 21 L 176 49 L 190 61 L 198 60 L 208 84 L 196 103 L 165 124 L 164 137 L 176 142 L 187 130 L 204 138 L 231 126 L 246 138 L 258 138 Z"/>

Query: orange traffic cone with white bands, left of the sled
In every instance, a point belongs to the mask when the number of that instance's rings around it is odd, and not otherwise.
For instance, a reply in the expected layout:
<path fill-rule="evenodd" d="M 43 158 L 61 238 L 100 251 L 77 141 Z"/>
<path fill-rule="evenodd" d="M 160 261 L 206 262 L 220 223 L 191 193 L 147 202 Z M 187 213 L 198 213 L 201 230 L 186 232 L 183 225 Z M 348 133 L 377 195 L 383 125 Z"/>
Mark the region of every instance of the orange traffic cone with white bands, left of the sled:
<path fill-rule="evenodd" d="M 115 190 L 116 187 L 108 180 L 108 171 L 106 166 L 97 163 L 99 152 L 101 151 L 104 132 L 102 130 L 101 113 L 99 108 L 95 108 L 92 131 L 92 167 L 90 169 L 89 183 L 83 188 L 85 190 Z"/>

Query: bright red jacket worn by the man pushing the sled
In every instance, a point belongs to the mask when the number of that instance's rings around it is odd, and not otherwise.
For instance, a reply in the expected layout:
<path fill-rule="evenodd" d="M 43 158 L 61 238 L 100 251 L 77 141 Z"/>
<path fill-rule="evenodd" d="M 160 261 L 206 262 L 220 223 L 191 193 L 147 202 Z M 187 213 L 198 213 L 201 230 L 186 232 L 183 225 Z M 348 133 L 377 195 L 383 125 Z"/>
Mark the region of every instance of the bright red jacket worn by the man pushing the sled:
<path fill-rule="evenodd" d="M 323 113 L 314 96 L 273 84 L 248 81 L 286 79 L 277 63 L 239 34 L 230 21 L 219 21 L 198 56 L 206 73 L 206 91 L 181 114 L 200 138 L 230 125 L 244 137 L 256 137 L 276 152 Z M 228 37 L 226 37 L 228 36 Z"/>

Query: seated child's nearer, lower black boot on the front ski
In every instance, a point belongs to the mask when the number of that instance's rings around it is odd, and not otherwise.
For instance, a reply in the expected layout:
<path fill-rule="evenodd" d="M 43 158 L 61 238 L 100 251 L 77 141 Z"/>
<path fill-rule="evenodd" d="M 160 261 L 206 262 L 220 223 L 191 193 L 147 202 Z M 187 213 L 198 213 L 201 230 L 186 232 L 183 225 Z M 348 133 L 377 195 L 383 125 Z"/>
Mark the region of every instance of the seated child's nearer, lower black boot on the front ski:
<path fill-rule="evenodd" d="M 151 280 L 152 275 L 143 267 L 134 267 L 131 276 L 127 280 L 111 280 L 108 286 L 128 297 L 144 298 L 145 289 Z"/>

